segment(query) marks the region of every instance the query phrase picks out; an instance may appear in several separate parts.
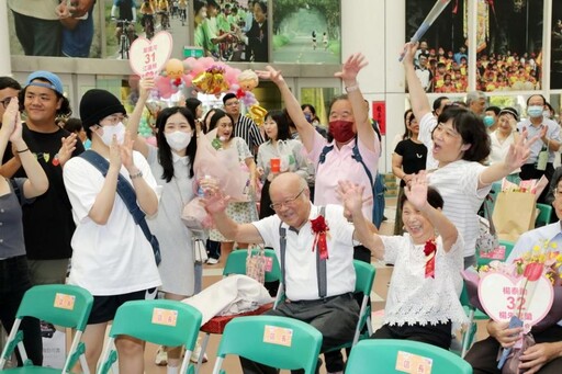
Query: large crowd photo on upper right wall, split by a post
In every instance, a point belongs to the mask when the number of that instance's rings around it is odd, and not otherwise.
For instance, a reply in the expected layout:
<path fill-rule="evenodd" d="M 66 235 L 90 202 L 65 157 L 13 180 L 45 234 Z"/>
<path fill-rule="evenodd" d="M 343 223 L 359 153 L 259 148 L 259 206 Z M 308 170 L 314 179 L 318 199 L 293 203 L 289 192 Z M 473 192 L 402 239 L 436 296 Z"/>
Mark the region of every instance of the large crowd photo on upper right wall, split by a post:
<path fill-rule="evenodd" d="M 423 23 L 435 0 L 406 0 L 406 35 Z M 419 43 L 415 64 L 427 92 L 540 90 L 543 0 L 476 0 L 476 77 L 469 77 L 467 0 L 451 1 Z"/>

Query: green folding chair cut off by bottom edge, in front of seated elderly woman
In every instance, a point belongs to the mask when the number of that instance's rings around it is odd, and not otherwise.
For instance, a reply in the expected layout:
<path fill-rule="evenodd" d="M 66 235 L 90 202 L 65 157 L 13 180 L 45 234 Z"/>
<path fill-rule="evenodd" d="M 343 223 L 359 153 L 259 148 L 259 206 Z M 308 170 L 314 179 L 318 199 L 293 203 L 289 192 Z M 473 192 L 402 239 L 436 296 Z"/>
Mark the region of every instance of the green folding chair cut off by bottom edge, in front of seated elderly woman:
<path fill-rule="evenodd" d="M 419 366 L 425 371 L 419 371 Z M 442 348 L 413 340 L 361 340 L 351 350 L 346 373 L 472 374 L 471 365 Z"/>

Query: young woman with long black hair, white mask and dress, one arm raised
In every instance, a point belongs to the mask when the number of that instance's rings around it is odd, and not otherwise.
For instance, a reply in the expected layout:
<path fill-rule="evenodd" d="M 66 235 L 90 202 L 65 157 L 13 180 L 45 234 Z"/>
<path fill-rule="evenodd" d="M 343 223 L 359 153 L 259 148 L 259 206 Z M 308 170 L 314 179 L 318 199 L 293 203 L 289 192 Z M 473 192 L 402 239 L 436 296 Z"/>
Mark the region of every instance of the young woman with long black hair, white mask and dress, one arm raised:
<path fill-rule="evenodd" d="M 150 165 L 156 182 L 161 188 L 158 214 L 148 219 L 148 226 L 160 242 L 162 262 L 158 267 L 162 280 L 161 291 L 168 299 L 181 301 L 201 291 L 202 263 L 195 263 L 195 237 L 181 220 L 183 206 L 195 197 L 193 162 L 198 149 L 196 126 L 193 113 L 184 106 L 166 107 L 156 118 L 157 147 L 137 135 L 143 109 L 154 80 L 142 79 L 139 97 L 131 114 L 127 128 L 138 150 Z M 204 241 L 203 241 L 204 246 Z M 180 348 L 162 348 L 157 353 L 157 364 L 168 364 L 168 373 L 177 373 Z M 192 359 L 195 360 L 195 358 Z"/>

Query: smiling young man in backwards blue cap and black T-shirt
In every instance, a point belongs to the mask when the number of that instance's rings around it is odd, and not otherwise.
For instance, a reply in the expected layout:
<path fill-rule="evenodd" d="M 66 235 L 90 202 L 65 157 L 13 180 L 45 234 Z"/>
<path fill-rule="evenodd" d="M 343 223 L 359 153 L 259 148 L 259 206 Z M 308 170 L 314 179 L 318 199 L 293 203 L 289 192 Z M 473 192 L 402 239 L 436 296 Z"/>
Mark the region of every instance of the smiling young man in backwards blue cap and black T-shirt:
<path fill-rule="evenodd" d="M 34 284 L 65 283 L 68 260 L 72 254 L 70 239 L 75 230 L 70 202 L 63 183 L 63 165 L 67 155 L 83 151 L 76 135 L 60 128 L 56 118 L 70 115 L 63 82 L 50 71 L 32 72 L 20 91 L 20 103 L 26 114 L 23 139 L 45 170 L 49 188 L 23 206 L 25 249 Z M 70 151 L 60 152 L 61 139 Z M 25 177 L 20 168 L 15 177 Z"/>

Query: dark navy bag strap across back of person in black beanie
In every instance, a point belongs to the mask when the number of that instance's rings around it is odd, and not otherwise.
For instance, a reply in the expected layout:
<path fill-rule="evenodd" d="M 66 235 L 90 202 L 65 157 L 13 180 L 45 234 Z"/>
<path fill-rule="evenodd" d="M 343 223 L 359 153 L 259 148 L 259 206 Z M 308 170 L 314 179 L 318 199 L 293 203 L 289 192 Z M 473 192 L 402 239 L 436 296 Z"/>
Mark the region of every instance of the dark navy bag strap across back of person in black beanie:
<path fill-rule="evenodd" d="M 103 177 L 108 174 L 110 163 L 99 154 L 94 152 L 93 150 L 86 150 L 79 156 L 93 165 L 102 173 Z M 150 247 L 153 247 L 154 260 L 156 261 L 156 265 L 159 265 L 162 260 L 160 254 L 160 243 L 158 242 L 158 239 L 150 233 L 150 228 L 148 228 L 148 225 L 146 224 L 145 213 L 140 209 L 140 207 L 138 207 L 138 204 L 136 203 L 135 189 L 133 189 L 131 183 L 121 173 L 117 178 L 117 194 L 125 203 L 128 212 L 135 220 L 135 224 L 140 227 L 146 240 L 148 240 Z"/>

